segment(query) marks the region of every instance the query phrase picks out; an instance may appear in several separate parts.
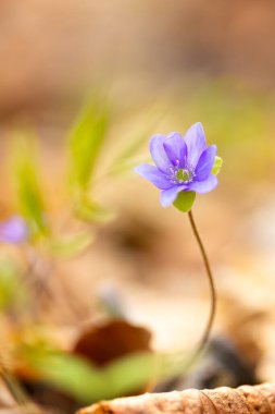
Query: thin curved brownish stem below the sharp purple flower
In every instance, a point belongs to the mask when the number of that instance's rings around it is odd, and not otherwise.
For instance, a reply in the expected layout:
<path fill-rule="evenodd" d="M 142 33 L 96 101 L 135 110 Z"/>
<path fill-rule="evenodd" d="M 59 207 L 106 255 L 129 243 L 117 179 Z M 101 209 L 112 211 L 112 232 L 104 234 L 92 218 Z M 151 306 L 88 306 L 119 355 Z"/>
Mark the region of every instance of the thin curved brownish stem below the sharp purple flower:
<path fill-rule="evenodd" d="M 213 279 L 213 275 L 211 271 L 208 255 L 207 255 L 205 248 L 202 244 L 202 241 L 201 241 L 200 234 L 198 232 L 197 226 L 195 223 L 191 210 L 188 211 L 188 217 L 189 217 L 189 221 L 190 221 L 195 238 L 198 242 L 198 245 L 199 245 L 199 248 L 200 248 L 200 252 L 202 255 L 203 264 L 204 264 L 208 280 L 209 280 L 210 292 L 211 292 L 211 306 L 210 306 L 209 318 L 208 318 L 208 322 L 207 322 L 207 326 L 204 328 L 203 334 L 201 337 L 201 340 L 200 340 L 198 348 L 197 348 L 195 355 L 193 355 L 193 358 L 196 358 L 209 342 L 210 333 L 211 333 L 211 330 L 213 327 L 213 321 L 214 321 L 214 317 L 215 317 L 215 313 L 216 313 L 216 291 L 215 291 L 214 279 Z"/>

